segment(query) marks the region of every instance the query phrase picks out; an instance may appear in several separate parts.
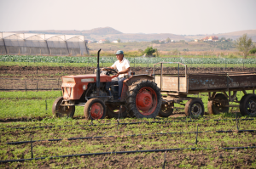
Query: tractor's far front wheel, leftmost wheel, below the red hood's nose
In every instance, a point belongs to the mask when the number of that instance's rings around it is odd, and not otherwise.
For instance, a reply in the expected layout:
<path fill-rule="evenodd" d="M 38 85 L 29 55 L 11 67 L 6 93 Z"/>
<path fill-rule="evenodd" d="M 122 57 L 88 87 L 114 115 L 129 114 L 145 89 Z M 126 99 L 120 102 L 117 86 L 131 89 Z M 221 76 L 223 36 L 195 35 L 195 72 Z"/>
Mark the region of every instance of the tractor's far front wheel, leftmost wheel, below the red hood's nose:
<path fill-rule="evenodd" d="M 75 112 L 75 106 L 61 106 L 63 97 L 55 99 L 54 104 L 52 105 L 52 114 L 55 117 L 73 117 Z"/>

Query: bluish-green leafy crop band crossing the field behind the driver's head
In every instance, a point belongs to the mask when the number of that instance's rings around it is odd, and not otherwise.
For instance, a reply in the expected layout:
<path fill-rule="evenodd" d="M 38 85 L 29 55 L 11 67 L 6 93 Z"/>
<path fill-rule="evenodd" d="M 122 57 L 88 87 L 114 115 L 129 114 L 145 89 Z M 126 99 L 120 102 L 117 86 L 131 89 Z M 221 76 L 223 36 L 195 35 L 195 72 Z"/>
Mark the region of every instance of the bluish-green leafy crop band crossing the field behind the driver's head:
<path fill-rule="evenodd" d="M 256 59 L 222 59 L 222 58 L 127 58 L 131 64 L 155 64 L 158 62 L 181 62 L 183 64 L 256 64 Z M 113 63 L 115 57 L 102 57 L 101 63 Z M 47 63 L 91 63 L 97 62 L 96 57 L 66 56 L 33 56 L 33 55 L 1 55 L 0 61 L 5 62 L 47 62 Z"/>

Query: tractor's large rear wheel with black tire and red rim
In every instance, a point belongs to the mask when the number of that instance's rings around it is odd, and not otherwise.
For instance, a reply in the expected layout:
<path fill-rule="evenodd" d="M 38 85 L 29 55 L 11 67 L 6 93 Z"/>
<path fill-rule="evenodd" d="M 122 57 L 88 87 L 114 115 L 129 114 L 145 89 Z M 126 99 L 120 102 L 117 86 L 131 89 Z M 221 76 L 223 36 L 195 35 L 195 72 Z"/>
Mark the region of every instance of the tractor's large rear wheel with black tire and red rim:
<path fill-rule="evenodd" d="M 129 86 L 126 101 L 131 116 L 154 118 L 161 109 L 162 95 L 154 82 L 134 82 Z"/>

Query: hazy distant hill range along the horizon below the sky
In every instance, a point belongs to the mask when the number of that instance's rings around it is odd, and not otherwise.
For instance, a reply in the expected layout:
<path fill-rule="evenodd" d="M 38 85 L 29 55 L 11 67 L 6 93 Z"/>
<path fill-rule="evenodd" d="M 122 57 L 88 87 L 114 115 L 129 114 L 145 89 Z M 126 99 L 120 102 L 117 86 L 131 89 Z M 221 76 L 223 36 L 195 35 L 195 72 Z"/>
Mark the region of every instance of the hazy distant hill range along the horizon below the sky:
<path fill-rule="evenodd" d="M 194 39 L 201 39 L 203 37 L 217 36 L 219 38 L 225 37 L 236 40 L 244 33 L 247 33 L 249 37 L 252 37 L 253 42 L 256 42 L 256 30 L 246 31 L 233 31 L 229 33 L 209 34 L 209 35 L 195 35 L 195 36 L 181 36 L 172 33 L 160 33 L 160 34 L 144 34 L 144 33 L 122 33 L 112 27 L 100 27 L 92 30 L 46 30 L 46 31 L 15 31 L 20 33 L 43 33 L 43 34 L 62 34 L 62 35 L 83 35 L 85 39 L 99 41 L 101 39 L 108 39 L 109 41 L 121 39 L 122 42 L 150 42 L 153 40 L 164 40 L 167 37 L 172 40 L 179 41 L 191 41 Z"/>

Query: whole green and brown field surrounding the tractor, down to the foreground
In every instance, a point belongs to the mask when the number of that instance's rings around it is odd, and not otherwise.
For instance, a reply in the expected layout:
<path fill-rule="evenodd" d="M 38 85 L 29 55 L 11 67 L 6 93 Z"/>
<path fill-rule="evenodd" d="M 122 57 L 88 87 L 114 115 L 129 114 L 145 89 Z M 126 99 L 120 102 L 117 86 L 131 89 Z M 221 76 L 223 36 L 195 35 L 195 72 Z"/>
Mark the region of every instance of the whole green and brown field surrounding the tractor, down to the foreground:
<path fill-rule="evenodd" d="M 91 123 L 84 120 L 83 107 L 76 107 L 73 119 L 53 118 L 51 106 L 61 96 L 61 76 L 92 73 L 94 65 L 3 61 L 0 64 L 0 161 L 42 158 L 1 162 L 1 168 L 158 168 L 164 163 L 166 168 L 256 167 L 256 118 L 241 116 L 238 108 L 207 115 L 208 93 L 193 95 L 202 98 L 206 115 L 192 121 L 183 110 L 174 110 L 168 118 L 103 119 Z M 148 74 L 148 65 L 153 64 L 145 63 L 131 70 Z M 253 66 L 238 65 L 189 65 L 188 72 L 255 71 Z M 177 65 L 164 70 L 176 74 Z M 237 93 L 238 100 L 242 95 Z M 30 142 L 7 144 L 31 139 L 35 141 L 32 150 Z M 147 152 L 150 149 L 152 152 Z M 50 158 L 53 156 L 56 157 Z"/>

